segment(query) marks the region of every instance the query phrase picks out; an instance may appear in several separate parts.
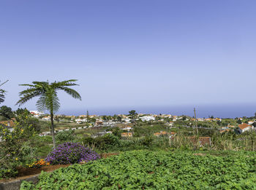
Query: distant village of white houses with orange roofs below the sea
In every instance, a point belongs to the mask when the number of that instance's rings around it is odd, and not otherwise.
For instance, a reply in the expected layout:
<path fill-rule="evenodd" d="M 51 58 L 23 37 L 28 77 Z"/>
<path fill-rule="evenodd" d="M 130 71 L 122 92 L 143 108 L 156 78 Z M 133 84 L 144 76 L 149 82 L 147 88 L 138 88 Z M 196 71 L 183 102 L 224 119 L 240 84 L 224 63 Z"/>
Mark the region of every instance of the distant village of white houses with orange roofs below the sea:
<path fill-rule="evenodd" d="M 31 116 L 34 118 L 39 119 L 42 122 L 50 122 L 50 115 L 45 114 L 40 111 L 30 111 Z M 98 116 L 98 115 L 89 115 L 83 114 L 79 116 L 66 116 L 64 114 L 59 114 L 54 116 L 54 122 L 56 123 L 68 123 L 66 128 L 62 128 L 58 130 L 56 127 L 56 131 L 62 130 L 69 130 L 70 127 L 72 130 L 80 130 L 83 128 L 90 128 L 90 127 L 120 127 L 120 129 L 124 132 L 121 133 L 122 137 L 132 137 L 133 128 L 135 122 L 141 122 L 144 124 L 164 124 L 165 126 L 171 128 L 176 127 L 190 127 L 194 128 L 202 128 L 202 129 L 214 129 L 219 130 L 219 133 L 225 132 L 236 132 L 237 134 L 241 134 L 243 132 L 248 132 L 250 130 L 256 130 L 256 118 L 247 118 L 247 117 L 240 117 L 236 119 L 221 119 L 221 118 L 214 118 L 211 116 L 209 118 L 194 118 L 191 116 L 175 116 L 171 114 L 137 114 L 135 111 L 132 114 L 115 114 L 113 116 Z M 15 118 L 1 121 L 1 125 L 4 127 L 12 128 L 15 126 Z M 72 125 L 75 124 L 75 127 Z M 94 135 L 97 137 L 98 135 L 104 135 L 108 132 L 99 132 L 99 134 Z M 50 135 L 49 131 L 42 131 L 40 135 Z M 155 136 L 159 135 L 170 135 L 172 137 L 175 135 L 175 132 L 166 132 L 166 131 L 159 131 L 154 133 Z"/>

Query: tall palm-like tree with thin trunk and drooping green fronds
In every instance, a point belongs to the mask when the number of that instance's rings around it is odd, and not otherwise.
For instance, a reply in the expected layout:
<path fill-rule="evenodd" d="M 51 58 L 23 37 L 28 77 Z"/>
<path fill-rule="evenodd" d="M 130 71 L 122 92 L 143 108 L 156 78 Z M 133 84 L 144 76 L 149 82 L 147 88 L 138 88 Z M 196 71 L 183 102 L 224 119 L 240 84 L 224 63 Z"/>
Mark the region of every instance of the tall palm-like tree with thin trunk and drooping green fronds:
<path fill-rule="evenodd" d="M 50 132 L 53 137 L 53 148 L 56 148 L 56 140 L 54 135 L 53 114 L 60 108 L 59 98 L 57 96 L 58 90 L 63 90 L 71 95 L 72 98 L 81 100 L 79 93 L 70 86 L 76 86 L 77 80 L 71 79 L 63 82 L 32 82 L 32 84 L 20 84 L 20 86 L 28 87 L 26 90 L 20 92 L 20 100 L 16 103 L 19 106 L 26 103 L 28 100 L 34 97 L 39 97 L 37 100 L 37 109 L 39 111 L 50 111 Z"/>

